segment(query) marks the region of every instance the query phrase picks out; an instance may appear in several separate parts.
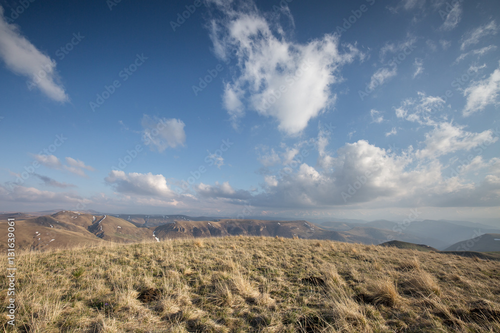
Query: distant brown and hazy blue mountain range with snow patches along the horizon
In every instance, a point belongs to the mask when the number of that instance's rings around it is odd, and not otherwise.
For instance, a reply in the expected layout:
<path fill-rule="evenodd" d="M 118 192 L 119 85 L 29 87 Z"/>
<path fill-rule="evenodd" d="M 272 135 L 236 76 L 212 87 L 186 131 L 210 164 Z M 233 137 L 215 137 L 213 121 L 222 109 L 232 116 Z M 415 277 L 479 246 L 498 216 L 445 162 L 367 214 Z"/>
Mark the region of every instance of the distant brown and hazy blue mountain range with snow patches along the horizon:
<path fill-rule="evenodd" d="M 462 242 L 466 243 L 470 239 L 481 239 L 484 234 L 500 234 L 500 229 L 488 225 L 446 220 L 414 221 L 408 224 L 387 220 L 362 223 L 352 222 L 360 220 L 343 220 L 317 225 L 304 220 L 237 220 L 225 217 L 104 214 L 96 211 L 67 210 L 0 214 L 0 222 L 6 222 L 7 218 L 14 218 L 16 221 L 17 244 L 35 249 L 63 247 L 67 244 L 91 245 L 102 241 L 161 241 L 173 238 L 243 235 L 329 239 L 364 244 L 397 240 L 444 250 L 459 247 Z M 6 228 L 0 230 L 0 236 L 4 232 Z M 474 247 L 468 250 L 481 251 L 477 250 L 482 249 L 481 244 L 491 239 L 489 236 L 483 238 L 483 241 L 474 242 Z M 496 246 L 495 242 L 500 244 L 500 241 L 494 241 L 494 237 L 492 239 L 488 241 L 491 244 L 488 243 L 489 245 L 483 248 L 485 251 L 500 251 L 491 247 Z"/>

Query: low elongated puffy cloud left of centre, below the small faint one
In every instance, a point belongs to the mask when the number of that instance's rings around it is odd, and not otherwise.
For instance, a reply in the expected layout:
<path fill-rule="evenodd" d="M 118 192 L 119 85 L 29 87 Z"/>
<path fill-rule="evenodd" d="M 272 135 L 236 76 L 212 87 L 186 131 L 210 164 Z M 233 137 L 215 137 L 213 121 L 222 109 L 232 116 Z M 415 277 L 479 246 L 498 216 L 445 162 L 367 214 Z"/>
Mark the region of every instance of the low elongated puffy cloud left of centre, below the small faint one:
<path fill-rule="evenodd" d="M 166 184 L 163 175 L 152 173 L 128 173 L 121 170 L 112 170 L 104 179 L 116 192 L 129 195 L 153 195 L 164 198 L 172 198 L 174 192 Z"/>

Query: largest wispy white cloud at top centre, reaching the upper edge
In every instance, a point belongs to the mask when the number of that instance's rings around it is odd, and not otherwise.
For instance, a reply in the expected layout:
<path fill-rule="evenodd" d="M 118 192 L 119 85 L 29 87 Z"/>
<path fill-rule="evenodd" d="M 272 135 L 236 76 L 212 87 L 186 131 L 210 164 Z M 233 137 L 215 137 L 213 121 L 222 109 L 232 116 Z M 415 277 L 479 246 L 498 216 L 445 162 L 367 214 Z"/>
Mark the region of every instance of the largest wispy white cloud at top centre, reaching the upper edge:
<path fill-rule="evenodd" d="M 222 13 L 208 24 L 215 54 L 222 60 L 234 56 L 237 62 L 223 92 L 234 126 L 246 105 L 276 120 L 284 133 L 298 134 L 334 102 L 330 89 L 342 80 L 341 67 L 362 56 L 353 45 L 340 47 L 329 34 L 307 43 L 290 41 L 277 17 L 261 14 L 253 2 L 209 3 Z"/>

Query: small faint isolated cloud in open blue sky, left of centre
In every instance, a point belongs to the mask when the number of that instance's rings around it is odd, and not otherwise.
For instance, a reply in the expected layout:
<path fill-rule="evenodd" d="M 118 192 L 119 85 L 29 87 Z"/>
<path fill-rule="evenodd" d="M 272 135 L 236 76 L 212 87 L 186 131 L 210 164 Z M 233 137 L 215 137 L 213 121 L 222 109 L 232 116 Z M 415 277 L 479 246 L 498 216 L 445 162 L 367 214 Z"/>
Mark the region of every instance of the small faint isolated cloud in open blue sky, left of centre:
<path fill-rule="evenodd" d="M 141 120 L 142 140 L 145 145 L 149 145 L 151 150 L 158 152 L 166 148 L 184 146 L 186 134 L 184 132 L 184 122 L 180 119 L 151 118 L 144 114 Z"/>

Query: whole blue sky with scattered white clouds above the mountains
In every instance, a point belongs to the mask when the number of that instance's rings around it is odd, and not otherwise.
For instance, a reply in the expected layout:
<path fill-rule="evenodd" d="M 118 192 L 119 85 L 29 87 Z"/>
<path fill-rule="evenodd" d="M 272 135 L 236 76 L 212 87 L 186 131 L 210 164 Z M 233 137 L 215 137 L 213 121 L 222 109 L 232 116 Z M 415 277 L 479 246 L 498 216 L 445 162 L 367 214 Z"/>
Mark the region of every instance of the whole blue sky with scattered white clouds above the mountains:
<path fill-rule="evenodd" d="M 0 1 L 0 210 L 497 221 L 500 3 Z"/>

